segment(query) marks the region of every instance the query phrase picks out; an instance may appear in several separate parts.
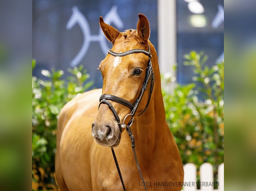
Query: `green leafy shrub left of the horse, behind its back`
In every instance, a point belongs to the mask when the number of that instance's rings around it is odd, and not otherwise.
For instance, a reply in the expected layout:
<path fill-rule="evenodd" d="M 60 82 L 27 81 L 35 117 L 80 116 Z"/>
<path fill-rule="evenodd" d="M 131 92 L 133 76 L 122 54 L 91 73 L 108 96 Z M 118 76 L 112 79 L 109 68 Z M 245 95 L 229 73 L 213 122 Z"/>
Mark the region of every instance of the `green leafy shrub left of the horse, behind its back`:
<path fill-rule="evenodd" d="M 33 60 L 32 68 L 34 66 Z M 41 73 L 47 80 L 32 77 L 33 181 L 52 181 L 59 111 L 68 101 L 93 85 L 93 82 L 87 82 L 90 75 L 83 66 L 69 68 L 68 71 L 71 75 L 67 81 L 61 79 L 64 73 L 62 70 L 42 70 Z"/>

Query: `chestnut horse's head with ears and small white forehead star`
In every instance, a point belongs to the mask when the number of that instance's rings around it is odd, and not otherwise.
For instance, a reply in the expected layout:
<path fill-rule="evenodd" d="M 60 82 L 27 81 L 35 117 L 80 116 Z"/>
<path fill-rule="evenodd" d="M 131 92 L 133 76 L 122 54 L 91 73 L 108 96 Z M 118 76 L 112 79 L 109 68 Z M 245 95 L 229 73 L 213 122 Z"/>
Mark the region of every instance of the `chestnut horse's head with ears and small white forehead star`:
<path fill-rule="evenodd" d="M 143 50 L 145 52 L 149 51 L 150 45 L 151 51 L 155 52 L 148 40 L 150 34 L 149 22 L 144 15 L 139 14 L 138 16 L 137 30 L 129 29 L 124 32 L 119 32 L 114 27 L 106 24 L 102 17 L 99 21 L 105 37 L 113 44 L 109 52 L 112 52 L 112 54 L 107 54 L 99 66 L 103 77 L 102 93 L 103 95 L 114 95 L 133 105 L 138 96 L 141 95 L 149 61 L 151 65 L 150 53 L 145 54 Z M 140 49 L 142 52 L 125 54 L 125 56 L 115 55 L 115 53 L 124 53 L 134 49 Z M 152 81 L 149 84 L 153 84 Z M 135 117 L 146 107 L 148 97 L 149 90 L 145 91 L 139 101 L 137 111 L 134 114 Z M 114 111 L 110 107 L 114 108 L 121 122 L 125 116 L 131 113 L 131 108 L 120 104 L 116 100 L 109 100 L 109 104 L 100 104 L 99 106 L 98 114 L 92 123 L 92 135 L 98 144 L 114 147 L 120 143 L 122 130 L 120 130 L 120 122 L 117 121 Z M 131 118 L 127 117 L 126 119 L 124 123 L 127 123 Z"/>

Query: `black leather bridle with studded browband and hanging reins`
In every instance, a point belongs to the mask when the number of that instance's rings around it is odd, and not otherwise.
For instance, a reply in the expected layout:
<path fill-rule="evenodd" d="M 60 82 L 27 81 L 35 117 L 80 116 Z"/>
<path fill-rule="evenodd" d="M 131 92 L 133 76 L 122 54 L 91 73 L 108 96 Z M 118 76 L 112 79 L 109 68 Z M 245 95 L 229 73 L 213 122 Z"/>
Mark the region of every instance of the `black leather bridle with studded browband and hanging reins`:
<path fill-rule="evenodd" d="M 147 69 L 146 69 L 146 74 L 145 74 L 145 78 L 144 78 L 144 81 L 143 81 L 142 88 L 140 90 L 140 93 L 139 93 L 138 97 L 136 98 L 136 100 L 135 100 L 135 102 L 133 104 L 131 102 L 121 98 L 121 97 L 118 97 L 118 96 L 115 96 L 115 95 L 110 95 L 110 94 L 103 94 L 103 95 L 101 95 L 100 96 L 100 104 L 99 104 L 99 107 L 100 107 L 100 105 L 102 103 L 105 103 L 111 109 L 112 113 L 115 116 L 116 122 L 117 122 L 117 124 L 119 126 L 120 133 L 122 133 L 122 128 L 125 128 L 127 130 L 128 134 L 129 134 L 129 136 L 131 138 L 132 150 L 133 150 L 133 155 L 134 155 L 134 158 L 135 158 L 135 162 L 136 162 L 136 165 L 137 165 L 137 168 L 138 168 L 141 180 L 144 183 L 144 188 L 147 191 L 146 184 L 145 184 L 145 181 L 144 181 L 144 178 L 142 176 L 142 173 L 141 173 L 141 170 L 140 170 L 140 167 L 139 167 L 139 163 L 138 163 L 138 160 L 137 160 L 137 156 L 136 156 L 136 152 L 135 152 L 135 138 L 134 138 L 134 135 L 132 134 L 130 126 L 132 125 L 132 123 L 134 121 L 134 115 L 135 115 L 135 112 L 138 109 L 138 106 L 139 106 L 139 103 L 140 103 L 140 101 L 141 101 L 141 99 L 143 97 L 143 94 L 147 90 L 147 86 L 149 84 L 149 79 L 150 79 L 150 89 L 149 89 L 148 101 L 147 101 L 146 107 L 144 108 L 144 110 L 139 115 L 144 113 L 144 111 L 147 109 L 147 107 L 148 107 L 148 105 L 150 103 L 150 99 L 151 99 L 151 95 L 152 95 L 153 89 L 154 89 L 155 77 L 154 77 L 154 72 L 153 72 L 152 63 L 151 63 L 152 56 L 150 54 L 150 48 L 149 48 L 149 45 L 148 45 L 148 51 L 143 50 L 143 49 L 133 49 L 133 50 L 129 50 L 129 51 L 126 51 L 126 52 L 123 52 L 123 53 L 115 53 L 112 50 L 108 49 L 108 53 L 111 54 L 112 56 L 115 56 L 115 57 L 116 56 L 122 57 L 122 56 L 126 56 L 126 55 L 133 54 L 133 53 L 144 53 L 145 55 L 147 55 L 149 57 L 148 64 L 147 64 Z M 127 114 L 124 117 L 123 122 L 120 121 L 118 113 L 114 109 L 113 105 L 109 102 L 109 100 L 118 102 L 120 104 L 123 104 L 124 106 L 129 107 L 131 109 L 131 113 Z M 126 125 L 125 124 L 125 120 L 129 116 L 131 117 L 131 119 L 128 122 L 128 125 Z M 124 182 L 123 182 L 123 178 L 122 178 L 122 174 L 121 174 L 121 171 L 120 171 L 120 168 L 119 168 L 119 165 L 118 165 L 118 162 L 117 162 L 117 158 L 116 158 L 116 155 L 115 155 L 115 152 L 114 152 L 114 148 L 111 147 L 111 150 L 112 150 L 112 154 L 113 154 L 113 157 L 114 157 L 114 160 L 115 160 L 115 163 L 116 163 L 117 171 L 118 171 L 118 174 L 119 174 L 119 177 L 120 177 L 123 189 L 124 189 L 124 191 L 126 191 L 126 188 L 125 188 L 125 185 L 124 185 Z"/>

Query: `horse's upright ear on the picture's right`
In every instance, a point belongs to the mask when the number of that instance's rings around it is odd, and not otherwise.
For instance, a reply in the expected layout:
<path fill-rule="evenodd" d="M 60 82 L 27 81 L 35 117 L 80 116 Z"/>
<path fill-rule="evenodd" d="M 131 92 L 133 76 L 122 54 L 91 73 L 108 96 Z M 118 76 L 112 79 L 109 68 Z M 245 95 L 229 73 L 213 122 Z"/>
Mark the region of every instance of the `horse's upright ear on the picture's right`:
<path fill-rule="evenodd" d="M 137 38 L 141 43 L 147 43 L 149 39 L 150 29 L 147 17 L 143 14 L 139 14 L 139 21 L 137 24 Z"/>

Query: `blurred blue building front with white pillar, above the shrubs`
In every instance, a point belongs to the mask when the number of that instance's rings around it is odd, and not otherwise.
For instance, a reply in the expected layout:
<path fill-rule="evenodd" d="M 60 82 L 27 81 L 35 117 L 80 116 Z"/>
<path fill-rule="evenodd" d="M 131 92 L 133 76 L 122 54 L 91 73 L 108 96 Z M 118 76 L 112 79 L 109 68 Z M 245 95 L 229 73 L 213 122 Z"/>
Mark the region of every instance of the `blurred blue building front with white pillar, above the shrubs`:
<path fill-rule="evenodd" d="M 224 59 L 224 1 L 198 0 L 35 0 L 33 3 L 33 76 L 41 70 L 83 65 L 97 88 L 102 87 L 99 63 L 111 43 L 100 38 L 99 16 L 119 31 L 136 29 L 138 13 L 150 23 L 150 41 L 159 56 L 162 73 L 177 66 L 177 82 L 192 82 L 191 67 L 182 65 L 183 55 L 204 51 L 207 65 Z M 100 35 L 100 36 L 99 36 Z M 97 38 L 99 37 L 99 38 Z M 66 74 L 64 74 L 66 75 Z"/>

